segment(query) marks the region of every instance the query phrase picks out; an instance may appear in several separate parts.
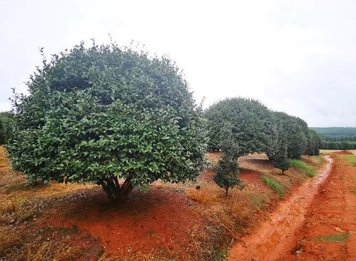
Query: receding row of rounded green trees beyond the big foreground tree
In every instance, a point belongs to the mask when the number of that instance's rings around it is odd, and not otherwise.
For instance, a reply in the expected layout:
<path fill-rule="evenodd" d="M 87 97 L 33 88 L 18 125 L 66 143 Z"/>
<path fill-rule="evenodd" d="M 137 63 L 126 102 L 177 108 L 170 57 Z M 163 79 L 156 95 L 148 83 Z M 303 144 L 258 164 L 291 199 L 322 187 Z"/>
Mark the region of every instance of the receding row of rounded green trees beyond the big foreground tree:
<path fill-rule="evenodd" d="M 210 106 L 205 111 L 205 118 L 208 123 L 208 149 L 222 150 L 223 153 L 217 175 L 224 173 L 222 166 L 232 168 L 228 159 L 236 161 L 249 153 L 266 153 L 275 168 L 280 168 L 283 173 L 290 167 L 289 158 L 300 159 L 303 154 L 319 154 L 320 137 L 308 128 L 305 121 L 287 113 L 270 111 L 253 99 L 226 98 Z M 226 135 L 228 132 L 230 134 Z M 226 140 L 229 146 L 234 145 L 229 153 L 225 152 L 226 145 L 222 145 Z M 235 171 L 225 173 L 234 175 Z M 232 178 L 225 178 L 225 183 L 220 181 L 218 185 L 226 189 L 229 183 L 230 188 L 238 184 Z"/>

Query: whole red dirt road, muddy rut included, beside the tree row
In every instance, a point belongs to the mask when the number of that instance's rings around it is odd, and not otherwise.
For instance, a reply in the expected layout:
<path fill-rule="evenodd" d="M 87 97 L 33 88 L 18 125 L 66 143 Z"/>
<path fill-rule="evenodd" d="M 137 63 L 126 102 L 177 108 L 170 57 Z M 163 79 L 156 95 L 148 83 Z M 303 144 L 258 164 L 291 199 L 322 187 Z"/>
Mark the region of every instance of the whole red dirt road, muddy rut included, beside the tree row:
<path fill-rule="evenodd" d="M 342 156 L 331 165 L 296 188 L 228 260 L 356 260 L 356 168 Z M 346 242 L 299 241 L 346 232 Z"/>

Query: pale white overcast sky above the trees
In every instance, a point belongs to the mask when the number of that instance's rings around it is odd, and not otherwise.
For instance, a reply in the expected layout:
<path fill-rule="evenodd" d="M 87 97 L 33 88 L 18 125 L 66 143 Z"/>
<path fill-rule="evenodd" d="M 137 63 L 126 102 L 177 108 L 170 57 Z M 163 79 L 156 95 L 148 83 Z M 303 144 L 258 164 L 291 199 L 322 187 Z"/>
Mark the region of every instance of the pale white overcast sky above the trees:
<path fill-rule="evenodd" d="M 205 107 L 257 98 L 309 126 L 356 127 L 356 1 L 0 0 L 0 111 L 47 55 L 108 34 L 183 69 Z"/>

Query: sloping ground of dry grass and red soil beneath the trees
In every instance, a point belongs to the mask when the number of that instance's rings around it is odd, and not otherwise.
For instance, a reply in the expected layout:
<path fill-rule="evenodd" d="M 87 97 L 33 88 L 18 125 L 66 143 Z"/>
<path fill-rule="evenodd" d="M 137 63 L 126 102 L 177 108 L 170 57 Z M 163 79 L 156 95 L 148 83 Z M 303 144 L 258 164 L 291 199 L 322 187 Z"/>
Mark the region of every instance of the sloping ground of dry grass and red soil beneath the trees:
<path fill-rule="evenodd" d="M 293 165 L 282 175 L 267 156 L 239 158 L 245 188 L 228 198 L 213 182 L 219 153 L 196 182 L 156 182 L 113 206 L 97 185 L 26 184 L 0 148 L 0 260 L 223 260 L 228 248 L 308 180 Z M 317 170 L 322 157 L 300 163 Z"/>

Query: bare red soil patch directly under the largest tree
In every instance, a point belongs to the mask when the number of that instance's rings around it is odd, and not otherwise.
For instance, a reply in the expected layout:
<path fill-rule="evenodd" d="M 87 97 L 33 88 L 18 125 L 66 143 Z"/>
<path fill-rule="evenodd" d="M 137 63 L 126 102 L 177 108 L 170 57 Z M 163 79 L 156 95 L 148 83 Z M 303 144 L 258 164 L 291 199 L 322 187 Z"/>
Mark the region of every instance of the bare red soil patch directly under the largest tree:
<path fill-rule="evenodd" d="M 153 249 L 182 255 L 193 230 L 203 226 L 198 213 L 189 207 L 190 201 L 165 188 L 151 188 L 148 193 L 133 191 L 120 208 L 100 208 L 105 202 L 103 195 L 101 199 L 69 203 L 64 213 L 61 208 L 51 210 L 51 218 L 42 225 L 78 227 L 97 237 L 115 255 L 132 250 L 150 253 Z"/>

